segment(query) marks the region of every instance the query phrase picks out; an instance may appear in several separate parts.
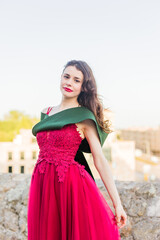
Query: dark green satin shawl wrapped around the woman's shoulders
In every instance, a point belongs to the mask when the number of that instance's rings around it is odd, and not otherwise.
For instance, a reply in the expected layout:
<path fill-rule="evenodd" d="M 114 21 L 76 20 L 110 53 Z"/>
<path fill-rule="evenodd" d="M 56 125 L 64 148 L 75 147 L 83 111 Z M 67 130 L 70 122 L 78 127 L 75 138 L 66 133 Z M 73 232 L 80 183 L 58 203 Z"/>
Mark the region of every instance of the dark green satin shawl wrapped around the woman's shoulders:
<path fill-rule="evenodd" d="M 46 113 L 41 112 L 41 119 L 36 125 L 32 128 L 32 134 L 36 136 L 36 134 L 40 131 L 45 130 L 52 130 L 52 129 L 60 129 L 64 125 L 71 124 L 71 123 L 78 123 L 85 119 L 92 119 L 95 122 L 100 144 L 103 146 L 105 139 L 108 136 L 108 133 L 104 132 L 101 127 L 98 125 L 95 115 L 92 111 L 88 108 L 82 107 L 73 107 L 62 110 L 58 113 L 55 113 L 51 116 L 47 115 Z M 83 164 L 89 174 L 92 176 L 91 170 L 87 164 L 87 161 L 82 152 L 91 153 L 90 146 L 87 142 L 87 139 L 84 138 L 79 146 L 77 151 L 75 160 L 78 161 L 80 164 Z M 94 179 L 94 178 L 93 178 Z"/>

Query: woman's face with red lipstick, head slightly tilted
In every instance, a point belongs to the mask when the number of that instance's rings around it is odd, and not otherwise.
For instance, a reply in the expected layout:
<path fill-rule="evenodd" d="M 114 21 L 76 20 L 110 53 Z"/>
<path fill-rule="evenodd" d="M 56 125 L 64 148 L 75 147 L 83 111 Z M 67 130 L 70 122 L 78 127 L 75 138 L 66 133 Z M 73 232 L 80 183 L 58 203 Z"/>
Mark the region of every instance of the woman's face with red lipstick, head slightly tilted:
<path fill-rule="evenodd" d="M 61 75 L 60 90 L 66 97 L 78 97 L 81 93 L 83 73 L 75 66 L 68 66 Z M 72 91 L 66 91 L 68 88 Z"/>

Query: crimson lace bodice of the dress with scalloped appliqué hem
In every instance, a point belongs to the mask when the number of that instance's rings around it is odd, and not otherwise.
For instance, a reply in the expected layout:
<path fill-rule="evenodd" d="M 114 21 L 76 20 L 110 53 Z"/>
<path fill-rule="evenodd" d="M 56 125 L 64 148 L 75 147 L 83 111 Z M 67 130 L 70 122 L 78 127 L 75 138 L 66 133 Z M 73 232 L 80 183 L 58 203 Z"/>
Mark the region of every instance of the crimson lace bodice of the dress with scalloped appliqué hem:
<path fill-rule="evenodd" d="M 45 173 L 46 163 L 52 163 L 56 166 L 59 182 L 64 181 L 70 165 L 77 165 L 84 175 L 85 167 L 74 160 L 83 140 L 75 123 L 61 129 L 38 132 L 36 138 L 40 149 L 36 167 L 40 173 Z"/>

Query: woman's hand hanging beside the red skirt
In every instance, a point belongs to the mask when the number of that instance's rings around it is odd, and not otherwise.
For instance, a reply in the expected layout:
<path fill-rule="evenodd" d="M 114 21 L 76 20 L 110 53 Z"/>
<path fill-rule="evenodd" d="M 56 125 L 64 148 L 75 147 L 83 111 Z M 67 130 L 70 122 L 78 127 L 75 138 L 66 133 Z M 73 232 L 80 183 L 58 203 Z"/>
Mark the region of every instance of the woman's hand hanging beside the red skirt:
<path fill-rule="evenodd" d="M 118 228 L 122 228 L 126 225 L 127 215 L 121 204 L 115 207 L 115 218 L 117 221 Z"/>

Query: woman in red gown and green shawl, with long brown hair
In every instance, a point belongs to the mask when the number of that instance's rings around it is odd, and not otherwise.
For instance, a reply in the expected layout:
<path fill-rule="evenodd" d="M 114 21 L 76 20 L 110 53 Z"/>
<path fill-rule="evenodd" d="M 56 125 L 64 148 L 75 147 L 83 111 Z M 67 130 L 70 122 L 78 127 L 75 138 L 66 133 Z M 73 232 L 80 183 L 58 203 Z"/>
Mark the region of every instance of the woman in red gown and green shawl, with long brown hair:
<path fill-rule="evenodd" d="M 43 109 L 32 129 L 40 151 L 29 190 L 28 240 L 120 239 L 127 216 L 102 152 L 110 129 L 88 64 L 68 62 L 60 90 L 61 103 Z M 92 153 L 115 216 L 82 152 Z"/>

